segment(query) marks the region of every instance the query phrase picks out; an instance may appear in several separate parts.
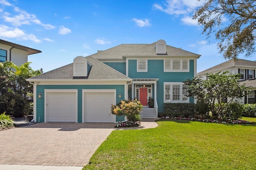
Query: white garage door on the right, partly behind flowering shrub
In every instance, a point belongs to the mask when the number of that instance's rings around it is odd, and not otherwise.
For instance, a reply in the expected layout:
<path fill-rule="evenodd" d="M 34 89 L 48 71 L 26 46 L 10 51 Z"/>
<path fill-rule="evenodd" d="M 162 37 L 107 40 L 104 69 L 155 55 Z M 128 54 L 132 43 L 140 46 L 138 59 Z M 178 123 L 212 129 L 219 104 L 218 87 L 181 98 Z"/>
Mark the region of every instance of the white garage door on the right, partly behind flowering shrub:
<path fill-rule="evenodd" d="M 85 92 L 84 122 L 114 122 L 110 107 L 115 103 L 114 92 Z"/>

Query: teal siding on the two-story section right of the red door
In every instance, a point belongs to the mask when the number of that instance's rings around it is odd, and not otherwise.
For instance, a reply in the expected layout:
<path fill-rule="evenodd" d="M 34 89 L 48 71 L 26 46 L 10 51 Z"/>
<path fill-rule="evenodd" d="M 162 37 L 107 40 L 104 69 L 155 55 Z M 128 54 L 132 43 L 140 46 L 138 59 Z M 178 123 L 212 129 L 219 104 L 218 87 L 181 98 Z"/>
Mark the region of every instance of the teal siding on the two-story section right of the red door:
<path fill-rule="evenodd" d="M 148 71 L 137 72 L 137 60 L 128 60 L 128 77 L 132 79 L 159 79 L 156 85 L 158 112 L 164 111 L 164 82 L 183 82 L 186 79 L 194 77 L 194 60 L 189 60 L 189 72 L 164 72 L 164 60 L 148 59 Z M 152 89 L 154 93 L 154 86 Z M 154 95 L 153 95 L 154 97 Z M 194 103 L 194 99 L 190 97 L 190 103 Z"/>

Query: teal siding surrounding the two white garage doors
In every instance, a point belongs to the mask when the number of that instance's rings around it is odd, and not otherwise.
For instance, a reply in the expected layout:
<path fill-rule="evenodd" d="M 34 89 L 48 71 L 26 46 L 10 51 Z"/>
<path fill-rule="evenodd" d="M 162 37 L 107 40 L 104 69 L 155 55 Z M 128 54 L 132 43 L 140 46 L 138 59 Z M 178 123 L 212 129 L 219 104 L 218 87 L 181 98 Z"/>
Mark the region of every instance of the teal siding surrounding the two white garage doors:
<path fill-rule="evenodd" d="M 82 123 L 82 89 L 116 89 L 116 103 L 124 100 L 124 95 L 119 98 L 119 93 L 125 94 L 124 85 L 37 85 L 36 87 L 36 120 L 44 122 L 44 89 L 78 89 L 78 123 Z M 39 99 L 38 94 L 42 97 Z M 113 103 L 113 104 L 116 104 Z M 40 117 L 40 120 L 39 120 Z M 120 117 L 116 119 L 121 119 Z M 123 120 L 122 120 L 123 121 Z"/>

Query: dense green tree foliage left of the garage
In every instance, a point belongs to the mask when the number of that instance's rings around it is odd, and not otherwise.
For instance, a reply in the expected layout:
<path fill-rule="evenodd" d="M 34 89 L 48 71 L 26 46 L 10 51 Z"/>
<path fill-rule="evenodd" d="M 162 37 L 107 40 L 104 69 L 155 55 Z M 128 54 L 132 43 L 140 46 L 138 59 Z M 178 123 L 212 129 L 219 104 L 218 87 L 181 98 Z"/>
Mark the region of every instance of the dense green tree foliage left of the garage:
<path fill-rule="evenodd" d="M 0 62 L 0 113 L 21 117 L 31 111 L 28 99 L 33 99 L 33 86 L 26 79 L 41 71 L 34 71 L 29 65 L 29 62 L 20 66 L 11 61 Z"/>

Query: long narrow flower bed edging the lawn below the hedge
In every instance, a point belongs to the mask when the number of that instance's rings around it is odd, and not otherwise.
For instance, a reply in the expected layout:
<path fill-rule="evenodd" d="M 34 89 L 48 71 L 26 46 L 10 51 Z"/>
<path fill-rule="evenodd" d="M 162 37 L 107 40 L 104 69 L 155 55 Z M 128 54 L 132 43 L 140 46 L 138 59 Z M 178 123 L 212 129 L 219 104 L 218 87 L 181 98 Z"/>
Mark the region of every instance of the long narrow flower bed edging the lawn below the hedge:
<path fill-rule="evenodd" d="M 253 122 L 249 121 L 243 121 L 243 120 L 227 120 L 227 121 L 221 121 L 221 120 L 213 120 L 213 119 L 196 119 L 196 118 L 182 118 L 182 117 L 161 117 L 160 119 L 175 119 L 175 120 L 188 120 L 188 121 L 198 121 L 198 122 L 211 122 L 211 123 L 231 123 L 231 124 L 253 124 Z"/>

